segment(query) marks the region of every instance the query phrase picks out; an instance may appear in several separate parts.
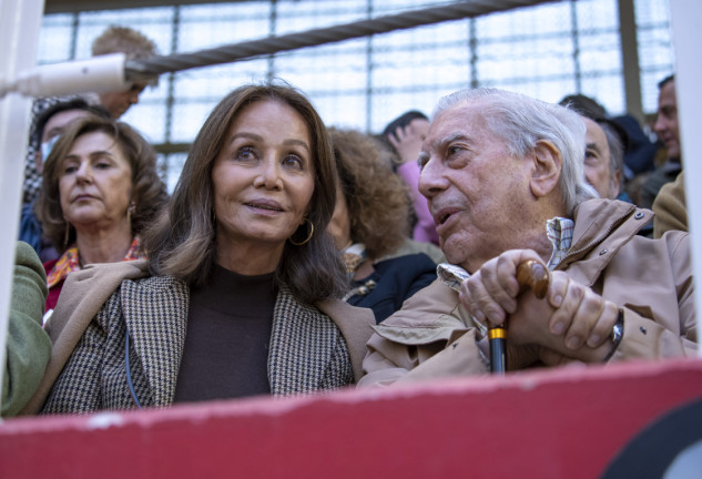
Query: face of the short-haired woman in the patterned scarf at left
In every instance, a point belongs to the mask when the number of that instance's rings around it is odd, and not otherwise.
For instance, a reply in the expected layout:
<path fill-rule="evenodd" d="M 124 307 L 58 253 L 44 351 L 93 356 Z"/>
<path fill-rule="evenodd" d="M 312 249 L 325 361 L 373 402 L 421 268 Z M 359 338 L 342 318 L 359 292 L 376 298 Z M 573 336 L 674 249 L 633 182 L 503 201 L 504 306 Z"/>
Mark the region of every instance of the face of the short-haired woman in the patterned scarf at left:
<path fill-rule="evenodd" d="M 85 133 L 62 160 L 59 191 L 63 216 L 79 232 L 83 226 L 128 224 L 132 167 L 112 136 Z"/>

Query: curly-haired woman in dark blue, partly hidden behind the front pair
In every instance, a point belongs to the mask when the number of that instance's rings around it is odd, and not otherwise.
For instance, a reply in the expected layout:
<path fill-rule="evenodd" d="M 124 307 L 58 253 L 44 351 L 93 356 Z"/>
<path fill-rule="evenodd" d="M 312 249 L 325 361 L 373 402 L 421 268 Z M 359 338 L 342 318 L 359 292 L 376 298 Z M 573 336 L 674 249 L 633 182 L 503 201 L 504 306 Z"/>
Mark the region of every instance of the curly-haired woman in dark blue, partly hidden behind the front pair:
<path fill-rule="evenodd" d="M 346 300 L 380 323 L 436 278 L 442 254 L 409 240 L 408 192 L 377 140 L 335 128 L 329 134 L 340 187 L 328 231 L 352 281 Z"/>

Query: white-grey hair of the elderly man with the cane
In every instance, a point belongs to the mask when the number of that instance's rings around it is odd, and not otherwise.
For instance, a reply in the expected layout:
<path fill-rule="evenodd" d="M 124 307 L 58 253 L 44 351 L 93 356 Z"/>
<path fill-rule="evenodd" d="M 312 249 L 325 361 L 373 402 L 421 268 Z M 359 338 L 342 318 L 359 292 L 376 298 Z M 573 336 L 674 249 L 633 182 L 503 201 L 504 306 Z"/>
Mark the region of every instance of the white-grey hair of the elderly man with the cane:
<path fill-rule="evenodd" d="M 441 98 L 431 120 L 445 110 L 470 102 L 480 103 L 488 129 L 505 140 L 510 154 L 527 156 L 539 140 L 556 145 L 562 157 L 559 186 L 569 215 L 583 201 L 599 196 L 584 177 L 586 125 L 578 113 L 505 90 L 466 89 Z"/>

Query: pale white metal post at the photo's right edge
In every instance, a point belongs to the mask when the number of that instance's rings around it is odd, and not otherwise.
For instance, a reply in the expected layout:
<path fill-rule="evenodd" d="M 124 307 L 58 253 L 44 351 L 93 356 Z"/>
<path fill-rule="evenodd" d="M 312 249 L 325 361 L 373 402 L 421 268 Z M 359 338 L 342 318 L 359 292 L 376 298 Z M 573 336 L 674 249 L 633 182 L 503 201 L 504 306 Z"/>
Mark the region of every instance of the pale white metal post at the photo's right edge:
<path fill-rule="evenodd" d="M 692 265 L 695 281 L 702 278 L 702 190 L 695 181 L 702 177 L 702 146 L 696 137 L 702 92 L 699 80 L 702 78 L 700 44 L 702 44 L 702 2 L 699 0 L 670 0 L 670 19 L 675 48 L 675 94 L 678 95 L 678 122 L 685 172 L 685 200 L 688 223 L 692 238 Z M 695 40 L 696 39 L 696 40 Z M 698 206 L 694 206 L 698 205 Z M 698 317 L 698 333 L 702 330 L 702 293 L 700 285 L 694 288 L 694 302 Z M 698 356 L 702 357 L 702 340 L 698 339 Z"/>

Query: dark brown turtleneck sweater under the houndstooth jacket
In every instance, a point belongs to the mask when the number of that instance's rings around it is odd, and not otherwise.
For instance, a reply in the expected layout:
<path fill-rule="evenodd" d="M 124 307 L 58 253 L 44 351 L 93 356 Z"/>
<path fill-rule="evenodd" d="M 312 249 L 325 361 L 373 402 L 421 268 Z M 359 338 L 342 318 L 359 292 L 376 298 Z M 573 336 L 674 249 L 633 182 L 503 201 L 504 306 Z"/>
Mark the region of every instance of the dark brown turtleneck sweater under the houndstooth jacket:
<path fill-rule="evenodd" d="M 274 274 L 242 276 L 218 265 L 191 288 L 175 402 L 271 394 L 267 375 Z"/>

